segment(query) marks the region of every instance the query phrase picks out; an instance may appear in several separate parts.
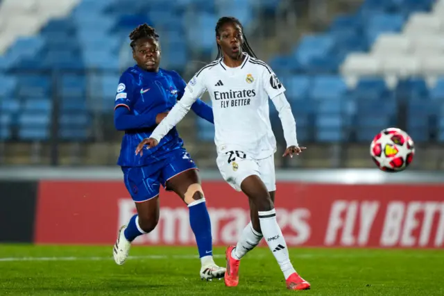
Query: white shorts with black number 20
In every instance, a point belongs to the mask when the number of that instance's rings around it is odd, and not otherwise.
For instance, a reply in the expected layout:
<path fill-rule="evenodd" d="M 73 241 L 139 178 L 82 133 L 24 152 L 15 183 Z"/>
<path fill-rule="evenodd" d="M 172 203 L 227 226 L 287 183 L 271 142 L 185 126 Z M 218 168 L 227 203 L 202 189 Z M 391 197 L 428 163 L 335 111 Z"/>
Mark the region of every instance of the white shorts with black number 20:
<path fill-rule="evenodd" d="M 217 167 L 225 181 L 232 188 L 241 191 L 241 183 L 246 177 L 257 175 L 264 182 L 268 192 L 276 190 L 275 158 L 253 159 L 241 151 L 228 151 L 218 154 Z"/>

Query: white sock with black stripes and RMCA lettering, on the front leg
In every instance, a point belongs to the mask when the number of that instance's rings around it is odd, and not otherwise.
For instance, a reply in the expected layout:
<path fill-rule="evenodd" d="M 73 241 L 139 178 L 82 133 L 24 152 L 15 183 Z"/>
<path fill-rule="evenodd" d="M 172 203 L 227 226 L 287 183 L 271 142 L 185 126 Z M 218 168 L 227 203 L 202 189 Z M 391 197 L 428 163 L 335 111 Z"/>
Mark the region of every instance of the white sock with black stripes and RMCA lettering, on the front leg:
<path fill-rule="evenodd" d="M 273 208 L 271 211 L 258 212 L 259 222 L 261 224 L 262 234 L 264 235 L 265 241 L 268 247 L 273 252 L 273 255 L 278 261 L 280 269 L 284 273 L 285 279 L 296 272 L 293 265 L 290 262 L 289 250 L 287 248 L 287 243 L 282 236 L 282 231 L 276 221 L 276 211 Z"/>

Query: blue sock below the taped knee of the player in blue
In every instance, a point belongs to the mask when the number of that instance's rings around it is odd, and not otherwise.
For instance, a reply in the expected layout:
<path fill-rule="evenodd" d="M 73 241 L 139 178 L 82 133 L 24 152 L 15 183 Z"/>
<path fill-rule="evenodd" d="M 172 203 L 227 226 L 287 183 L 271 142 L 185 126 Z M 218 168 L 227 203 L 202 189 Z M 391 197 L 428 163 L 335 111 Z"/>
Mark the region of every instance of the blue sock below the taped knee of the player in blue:
<path fill-rule="evenodd" d="M 188 205 L 189 224 L 196 236 L 199 257 L 213 256 L 213 244 L 211 236 L 211 221 L 208 215 L 205 199 L 196 200 Z"/>

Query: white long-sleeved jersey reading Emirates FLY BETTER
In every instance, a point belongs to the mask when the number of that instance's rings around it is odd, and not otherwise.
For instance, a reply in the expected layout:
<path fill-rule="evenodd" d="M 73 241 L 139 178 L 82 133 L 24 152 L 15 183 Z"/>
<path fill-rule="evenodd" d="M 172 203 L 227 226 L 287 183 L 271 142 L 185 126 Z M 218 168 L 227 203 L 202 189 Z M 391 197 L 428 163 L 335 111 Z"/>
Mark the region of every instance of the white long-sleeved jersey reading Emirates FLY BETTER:
<path fill-rule="evenodd" d="M 276 140 L 271 129 L 268 98 L 273 100 L 280 95 L 284 97 L 285 88 L 266 63 L 248 55 L 239 67 L 228 67 L 221 58 L 200 69 L 187 84 L 185 94 L 176 104 L 178 107 L 175 106 L 162 120 L 151 138 L 160 140 L 205 91 L 209 92 L 212 100 L 214 142 L 218 154 L 239 150 L 255 159 L 274 154 Z M 281 120 L 283 117 L 291 117 L 287 125 L 293 126 L 286 135 L 287 147 L 297 146 L 296 123 L 287 99 L 284 99 L 285 104 L 279 103 L 279 106 L 273 102 L 278 111 L 281 107 L 289 110 L 289 113 L 282 112 L 286 116 L 281 116 L 280 112 L 280 117 Z M 185 113 L 175 108 L 183 108 Z"/>

